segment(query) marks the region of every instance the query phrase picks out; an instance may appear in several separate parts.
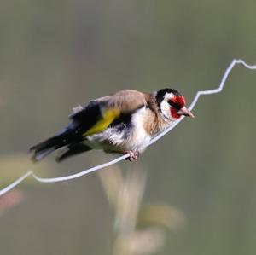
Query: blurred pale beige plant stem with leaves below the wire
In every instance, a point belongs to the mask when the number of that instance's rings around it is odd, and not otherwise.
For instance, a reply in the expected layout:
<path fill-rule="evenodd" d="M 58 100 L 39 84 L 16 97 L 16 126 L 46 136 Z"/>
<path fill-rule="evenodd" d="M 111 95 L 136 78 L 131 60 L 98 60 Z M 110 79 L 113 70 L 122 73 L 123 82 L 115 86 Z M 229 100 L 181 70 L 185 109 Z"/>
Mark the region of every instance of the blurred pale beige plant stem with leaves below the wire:
<path fill-rule="evenodd" d="M 115 238 L 113 255 L 149 255 L 166 241 L 163 227 L 177 230 L 185 222 L 183 212 L 167 205 L 143 206 L 146 171 L 133 167 L 123 177 L 114 165 L 99 171 L 109 205 L 113 207 Z"/>

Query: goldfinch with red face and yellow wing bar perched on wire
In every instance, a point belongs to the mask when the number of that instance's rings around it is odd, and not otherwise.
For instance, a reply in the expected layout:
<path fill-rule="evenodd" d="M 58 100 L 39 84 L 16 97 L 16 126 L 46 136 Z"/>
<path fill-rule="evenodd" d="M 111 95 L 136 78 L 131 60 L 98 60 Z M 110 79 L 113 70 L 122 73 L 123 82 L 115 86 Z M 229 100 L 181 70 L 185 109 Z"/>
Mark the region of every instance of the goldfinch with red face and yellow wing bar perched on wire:
<path fill-rule="evenodd" d="M 154 136 L 183 115 L 194 118 L 177 90 L 119 90 L 84 107 L 73 107 L 70 122 L 61 132 L 30 148 L 32 160 L 38 162 L 57 150 L 56 161 L 61 162 L 91 149 L 102 149 L 111 154 L 129 154 L 127 159 L 132 162 Z"/>

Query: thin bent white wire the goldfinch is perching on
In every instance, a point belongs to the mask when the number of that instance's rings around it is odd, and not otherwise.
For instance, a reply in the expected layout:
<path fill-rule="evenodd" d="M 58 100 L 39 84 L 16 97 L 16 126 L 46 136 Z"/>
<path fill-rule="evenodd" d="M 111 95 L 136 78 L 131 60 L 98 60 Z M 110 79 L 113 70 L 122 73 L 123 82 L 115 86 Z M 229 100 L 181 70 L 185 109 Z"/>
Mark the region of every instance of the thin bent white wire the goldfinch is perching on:
<path fill-rule="evenodd" d="M 236 66 L 236 64 L 241 64 L 243 67 L 246 67 L 248 69 L 256 69 L 256 65 L 254 66 L 250 66 L 248 65 L 245 61 L 242 60 L 236 60 L 234 59 L 231 63 L 230 66 L 227 67 L 227 69 L 224 72 L 224 76 L 221 79 L 220 84 L 218 85 L 217 89 L 213 89 L 213 90 L 202 90 L 202 91 L 198 91 L 195 95 L 194 100 L 191 102 L 190 106 L 189 106 L 189 110 L 191 111 L 194 107 L 195 104 L 197 103 L 198 99 L 200 96 L 202 95 L 212 95 L 215 93 L 219 93 L 223 90 L 224 88 L 224 84 L 227 80 L 227 78 L 230 75 L 231 70 L 233 69 L 233 67 Z M 166 130 L 162 131 L 160 134 L 158 134 L 157 136 L 155 136 L 149 143 L 149 145 L 153 144 L 154 142 L 158 141 L 162 136 L 165 136 L 166 133 L 170 132 L 172 129 L 174 129 L 182 120 L 184 117 L 178 119 L 172 126 L 168 127 Z M 117 159 L 113 159 L 107 163 L 104 163 L 102 165 L 96 165 L 94 167 L 91 167 L 89 169 L 86 169 L 84 171 L 80 171 L 78 173 L 75 173 L 73 175 L 69 175 L 66 177 L 55 177 L 55 178 L 43 178 L 43 177 L 38 177 L 33 171 L 27 171 L 22 177 L 20 177 L 19 179 L 17 179 L 14 183 L 9 184 L 9 186 L 7 186 L 6 188 L 3 188 L 0 190 L 0 196 L 7 193 L 10 189 L 15 188 L 15 186 L 17 186 L 18 184 L 20 184 L 22 181 L 24 181 L 27 177 L 32 176 L 35 180 L 37 180 L 39 183 L 57 183 L 57 182 L 64 182 L 64 181 L 68 181 L 68 180 L 72 180 L 74 178 L 78 178 L 78 177 L 82 177 L 84 175 L 89 174 L 92 171 L 97 171 L 100 170 L 104 167 L 107 167 L 109 165 L 113 165 L 118 163 L 119 161 L 128 158 L 129 154 L 125 154 L 123 156 L 120 156 Z"/>

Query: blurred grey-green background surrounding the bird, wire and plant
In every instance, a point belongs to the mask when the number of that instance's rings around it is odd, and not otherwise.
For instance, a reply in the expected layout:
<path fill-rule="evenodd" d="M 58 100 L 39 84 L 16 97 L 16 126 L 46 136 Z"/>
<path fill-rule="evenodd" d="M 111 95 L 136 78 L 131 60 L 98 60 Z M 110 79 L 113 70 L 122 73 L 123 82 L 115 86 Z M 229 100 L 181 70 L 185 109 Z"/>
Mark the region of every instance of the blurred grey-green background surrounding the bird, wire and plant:
<path fill-rule="evenodd" d="M 256 64 L 255 22 L 252 0 L 2 0 L 1 187 L 30 167 L 28 148 L 66 125 L 77 104 L 164 87 L 189 102 L 217 87 L 233 58 Z M 235 67 L 223 93 L 201 97 L 195 119 L 136 163 L 119 163 L 124 173 L 147 170 L 143 203 L 186 216 L 157 254 L 255 254 L 255 83 L 255 71 Z M 51 156 L 32 167 L 62 176 L 108 159 L 90 152 L 58 165 Z M 22 203 L 0 217 L 1 254 L 112 254 L 114 216 L 96 173 L 19 188 Z"/>

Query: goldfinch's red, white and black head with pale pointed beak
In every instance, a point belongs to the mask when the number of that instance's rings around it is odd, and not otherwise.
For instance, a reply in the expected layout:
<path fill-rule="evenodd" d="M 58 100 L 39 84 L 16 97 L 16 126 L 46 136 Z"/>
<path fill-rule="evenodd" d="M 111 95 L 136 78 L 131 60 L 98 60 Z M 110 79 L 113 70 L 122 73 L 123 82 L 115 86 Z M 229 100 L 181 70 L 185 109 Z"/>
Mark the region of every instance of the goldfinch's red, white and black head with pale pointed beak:
<path fill-rule="evenodd" d="M 182 115 L 194 118 L 194 115 L 186 107 L 186 100 L 177 90 L 162 89 L 156 92 L 156 101 L 160 112 L 172 121 Z"/>

